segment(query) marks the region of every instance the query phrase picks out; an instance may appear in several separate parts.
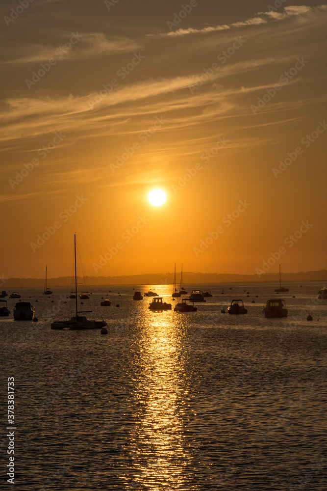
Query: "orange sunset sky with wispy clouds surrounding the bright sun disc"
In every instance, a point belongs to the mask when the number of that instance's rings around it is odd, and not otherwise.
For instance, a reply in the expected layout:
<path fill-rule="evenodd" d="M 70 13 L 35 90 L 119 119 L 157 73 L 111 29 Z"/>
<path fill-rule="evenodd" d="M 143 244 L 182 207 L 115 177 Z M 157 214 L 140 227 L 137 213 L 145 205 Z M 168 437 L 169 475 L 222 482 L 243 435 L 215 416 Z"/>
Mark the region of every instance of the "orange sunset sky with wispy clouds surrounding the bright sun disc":
<path fill-rule="evenodd" d="M 0 276 L 327 268 L 327 4 L 0 14 Z"/>

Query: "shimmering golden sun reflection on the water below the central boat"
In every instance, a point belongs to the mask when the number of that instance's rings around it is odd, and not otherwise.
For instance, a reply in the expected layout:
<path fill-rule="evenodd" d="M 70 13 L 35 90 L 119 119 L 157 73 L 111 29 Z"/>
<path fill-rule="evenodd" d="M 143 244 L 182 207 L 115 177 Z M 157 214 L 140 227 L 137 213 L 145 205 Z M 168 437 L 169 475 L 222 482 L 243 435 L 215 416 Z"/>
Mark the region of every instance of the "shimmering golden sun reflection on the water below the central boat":
<path fill-rule="evenodd" d="M 190 487 L 191 472 L 185 468 L 192 461 L 181 419 L 188 391 L 176 325 L 166 320 L 165 313 L 149 314 L 153 319 L 144 333 L 140 376 L 135 381 L 135 396 L 144 412 L 130 435 L 135 445 L 133 480 L 140 489 L 153 491 L 198 489 Z"/>

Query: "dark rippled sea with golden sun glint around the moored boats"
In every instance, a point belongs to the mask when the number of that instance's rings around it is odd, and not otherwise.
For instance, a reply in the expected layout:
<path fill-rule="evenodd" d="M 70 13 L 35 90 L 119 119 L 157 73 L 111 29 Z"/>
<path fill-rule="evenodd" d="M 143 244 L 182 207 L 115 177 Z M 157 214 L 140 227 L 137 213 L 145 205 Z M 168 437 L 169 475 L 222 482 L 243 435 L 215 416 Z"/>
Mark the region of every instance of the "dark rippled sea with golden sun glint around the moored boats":
<path fill-rule="evenodd" d="M 327 300 L 318 300 L 320 283 L 289 283 L 278 295 L 277 286 L 186 285 L 189 294 L 212 294 L 189 313 L 174 312 L 180 300 L 171 285 L 92 287 L 78 308 L 103 318 L 107 334 L 51 330 L 74 313 L 64 288 L 50 297 L 19 289 L 38 322 L 14 321 L 19 300 L 7 297 L 6 489 L 15 428 L 17 490 L 326 490 Z M 151 298 L 132 300 L 149 288 L 173 309 L 153 312 Z M 288 317 L 266 319 L 262 307 L 277 297 Z M 111 306 L 101 307 L 102 298 Z M 234 299 L 247 314 L 221 312 Z M 14 426 L 5 414 L 11 377 Z"/>

